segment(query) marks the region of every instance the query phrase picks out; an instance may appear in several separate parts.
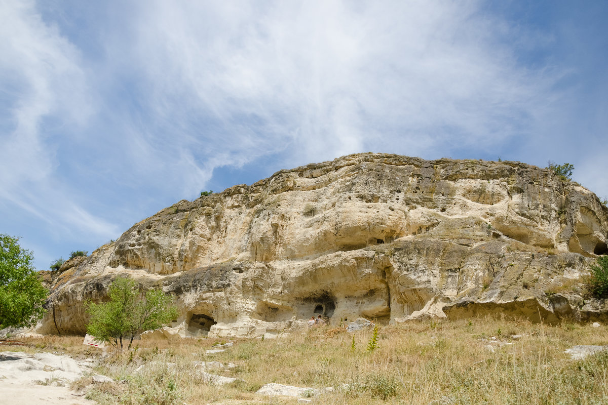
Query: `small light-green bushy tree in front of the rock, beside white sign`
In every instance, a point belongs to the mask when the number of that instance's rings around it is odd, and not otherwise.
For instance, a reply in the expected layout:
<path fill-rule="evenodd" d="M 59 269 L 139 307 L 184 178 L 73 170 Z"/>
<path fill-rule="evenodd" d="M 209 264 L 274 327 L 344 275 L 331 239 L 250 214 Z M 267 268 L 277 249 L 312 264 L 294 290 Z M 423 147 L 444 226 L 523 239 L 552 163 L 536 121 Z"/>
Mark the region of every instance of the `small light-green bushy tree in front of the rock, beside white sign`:
<path fill-rule="evenodd" d="M 173 298 L 161 290 L 148 290 L 141 294 L 137 284 L 128 277 L 119 277 L 109 288 L 109 302 L 88 302 L 91 315 L 87 333 L 123 349 L 123 341 L 131 343 L 137 333 L 156 329 L 177 318 L 178 311 L 172 305 Z"/>

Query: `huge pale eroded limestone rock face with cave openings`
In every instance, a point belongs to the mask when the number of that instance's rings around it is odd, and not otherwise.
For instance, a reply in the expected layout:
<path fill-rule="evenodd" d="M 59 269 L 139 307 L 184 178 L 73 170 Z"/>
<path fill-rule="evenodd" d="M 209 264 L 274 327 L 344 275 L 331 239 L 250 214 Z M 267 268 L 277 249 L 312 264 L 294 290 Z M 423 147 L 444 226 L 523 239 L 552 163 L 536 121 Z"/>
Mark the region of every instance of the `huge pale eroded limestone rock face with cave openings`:
<path fill-rule="evenodd" d="M 319 314 L 606 320 L 580 285 L 607 231 L 595 194 L 547 169 L 349 155 L 137 223 L 58 277 L 40 331 L 84 333 L 83 302 L 119 274 L 176 294 L 187 336 L 272 337 Z"/>

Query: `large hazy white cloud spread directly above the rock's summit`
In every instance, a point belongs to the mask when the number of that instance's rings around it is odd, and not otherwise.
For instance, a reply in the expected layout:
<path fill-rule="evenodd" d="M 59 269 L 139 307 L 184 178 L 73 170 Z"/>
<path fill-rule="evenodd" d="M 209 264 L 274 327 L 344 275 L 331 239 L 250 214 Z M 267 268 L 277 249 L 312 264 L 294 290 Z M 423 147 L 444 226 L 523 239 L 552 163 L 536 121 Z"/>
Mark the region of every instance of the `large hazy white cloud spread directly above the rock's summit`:
<path fill-rule="evenodd" d="M 556 75 L 520 66 L 502 40 L 513 32 L 477 7 L 147 2 L 106 48 L 141 74 L 153 120 L 180 134 L 173 157 L 193 158 L 179 169 L 491 148 L 544 114 Z"/>

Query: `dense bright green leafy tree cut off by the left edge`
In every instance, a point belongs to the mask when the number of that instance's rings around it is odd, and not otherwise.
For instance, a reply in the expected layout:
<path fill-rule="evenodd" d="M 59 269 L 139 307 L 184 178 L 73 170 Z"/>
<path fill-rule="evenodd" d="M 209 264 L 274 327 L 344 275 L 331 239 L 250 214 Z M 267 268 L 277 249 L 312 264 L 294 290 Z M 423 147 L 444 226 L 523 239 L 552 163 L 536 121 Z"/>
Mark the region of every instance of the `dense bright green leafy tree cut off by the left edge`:
<path fill-rule="evenodd" d="M 48 291 L 19 238 L 0 234 L 0 328 L 27 327 L 44 315 Z"/>

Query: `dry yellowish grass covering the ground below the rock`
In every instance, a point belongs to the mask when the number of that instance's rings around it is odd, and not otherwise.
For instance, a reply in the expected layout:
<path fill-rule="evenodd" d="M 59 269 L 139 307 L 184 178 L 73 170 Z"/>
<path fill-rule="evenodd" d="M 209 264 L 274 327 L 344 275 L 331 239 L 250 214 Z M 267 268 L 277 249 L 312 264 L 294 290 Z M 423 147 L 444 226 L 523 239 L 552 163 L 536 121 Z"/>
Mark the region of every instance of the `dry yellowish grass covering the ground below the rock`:
<path fill-rule="evenodd" d="M 312 398 L 319 404 L 604 404 L 608 352 L 570 361 L 564 350 L 607 344 L 606 332 L 604 326 L 492 318 L 415 322 L 381 327 L 379 348 L 371 354 L 365 351 L 371 330 L 354 335 L 351 352 L 352 335 L 337 328 L 236 341 L 215 355 L 204 354 L 214 339 L 140 342 L 137 350 L 102 360 L 97 371 L 122 383 L 95 386 L 89 398 L 102 404 L 295 403 L 255 395 L 263 384 L 280 383 L 334 387 Z M 80 345 L 81 338 L 76 340 Z M 44 350 L 64 348 L 72 355 L 91 350 L 70 347 L 71 338 L 44 341 Z M 207 384 L 193 372 L 196 360 L 233 362 L 235 369 L 218 373 L 242 381 Z M 134 372 L 141 364 L 143 371 Z"/>

